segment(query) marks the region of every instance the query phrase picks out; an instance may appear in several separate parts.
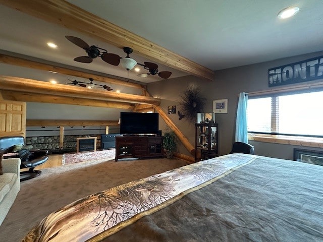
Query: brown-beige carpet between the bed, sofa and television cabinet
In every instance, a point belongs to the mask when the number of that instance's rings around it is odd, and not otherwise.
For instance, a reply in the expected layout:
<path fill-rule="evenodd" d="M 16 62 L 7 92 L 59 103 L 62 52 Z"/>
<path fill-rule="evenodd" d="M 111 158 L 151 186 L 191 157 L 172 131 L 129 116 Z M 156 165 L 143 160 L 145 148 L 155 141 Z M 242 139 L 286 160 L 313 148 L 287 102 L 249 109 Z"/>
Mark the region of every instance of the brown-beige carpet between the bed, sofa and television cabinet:
<path fill-rule="evenodd" d="M 40 176 L 21 183 L 15 203 L 0 226 L 0 241 L 21 241 L 47 214 L 89 194 L 187 164 L 179 159 L 128 159 L 42 169 Z"/>

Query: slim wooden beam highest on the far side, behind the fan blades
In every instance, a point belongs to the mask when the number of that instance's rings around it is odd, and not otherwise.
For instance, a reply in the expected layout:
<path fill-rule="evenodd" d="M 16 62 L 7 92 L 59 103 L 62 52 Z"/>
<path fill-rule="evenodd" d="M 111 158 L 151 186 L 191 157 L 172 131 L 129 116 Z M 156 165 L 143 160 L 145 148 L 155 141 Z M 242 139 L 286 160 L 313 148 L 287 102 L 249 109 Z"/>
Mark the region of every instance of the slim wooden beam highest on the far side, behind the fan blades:
<path fill-rule="evenodd" d="M 76 71 L 73 69 L 63 68 L 59 66 L 47 65 L 40 62 L 29 61 L 28 59 L 14 57 L 6 54 L 0 54 L 0 62 L 9 64 L 9 65 L 19 66 L 19 67 L 26 67 L 26 68 L 32 68 L 32 69 L 37 69 L 42 71 L 49 71 L 49 72 L 57 72 L 57 73 L 74 76 L 74 77 L 81 77 L 86 79 L 93 78 L 96 81 L 105 82 L 109 84 L 116 84 L 116 85 L 121 85 L 126 87 L 139 88 L 139 89 L 146 88 L 145 85 L 141 85 L 137 83 L 126 82 L 126 81 L 122 81 L 122 80 L 118 80 L 110 77 Z"/>

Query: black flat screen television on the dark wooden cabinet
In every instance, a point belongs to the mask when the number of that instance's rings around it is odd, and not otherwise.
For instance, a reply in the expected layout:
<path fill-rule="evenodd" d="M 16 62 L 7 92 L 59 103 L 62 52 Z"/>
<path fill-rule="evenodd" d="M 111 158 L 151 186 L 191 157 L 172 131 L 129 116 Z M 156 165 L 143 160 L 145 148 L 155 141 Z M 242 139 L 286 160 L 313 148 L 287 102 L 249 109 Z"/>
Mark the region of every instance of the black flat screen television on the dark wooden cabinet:
<path fill-rule="evenodd" d="M 123 135 L 158 134 L 158 113 L 120 112 L 120 134 L 123 134 Z"/>

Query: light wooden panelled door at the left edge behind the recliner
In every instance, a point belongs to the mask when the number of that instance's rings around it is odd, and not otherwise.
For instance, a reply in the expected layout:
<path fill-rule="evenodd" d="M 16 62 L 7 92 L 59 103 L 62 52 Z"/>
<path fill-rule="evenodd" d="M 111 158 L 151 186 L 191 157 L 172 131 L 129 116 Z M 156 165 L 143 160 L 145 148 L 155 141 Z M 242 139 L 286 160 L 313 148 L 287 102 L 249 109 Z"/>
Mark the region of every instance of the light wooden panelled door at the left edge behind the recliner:
<path fill-rule="evenodd" d="M 0 100 L 0 137 L 26 135 L 26 103 Z"/>

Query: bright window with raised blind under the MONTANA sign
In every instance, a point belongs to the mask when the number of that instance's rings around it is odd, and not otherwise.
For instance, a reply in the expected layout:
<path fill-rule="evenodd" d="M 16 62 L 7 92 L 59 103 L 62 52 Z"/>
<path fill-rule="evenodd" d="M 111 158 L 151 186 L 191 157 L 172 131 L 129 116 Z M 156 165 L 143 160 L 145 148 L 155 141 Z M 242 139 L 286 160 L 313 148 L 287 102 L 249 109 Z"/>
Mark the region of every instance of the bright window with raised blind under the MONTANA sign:
<path fill-rule="evenodd" d="M 249 97 L 248 133 L 323 138 L 323 91 L 306 91 Z"/>

